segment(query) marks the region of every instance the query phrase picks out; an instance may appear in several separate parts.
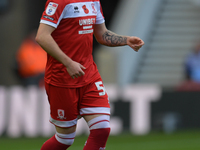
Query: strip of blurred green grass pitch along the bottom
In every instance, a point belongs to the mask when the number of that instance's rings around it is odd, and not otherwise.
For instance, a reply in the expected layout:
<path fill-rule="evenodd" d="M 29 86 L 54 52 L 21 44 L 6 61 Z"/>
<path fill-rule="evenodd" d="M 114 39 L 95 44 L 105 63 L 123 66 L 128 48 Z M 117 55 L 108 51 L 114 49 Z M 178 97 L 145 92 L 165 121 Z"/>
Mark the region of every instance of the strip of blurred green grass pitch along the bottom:
<path fill-rule="evenodd" d="M 86 136 L 75 138 L 69 150 L 81 150 Z M 40 150 L 47 138 L 0 137 L 0 150 Z M 106 150 L 200 150 L 200 130 L 177 131 L 173 134 L 153 132 L 144 136 L 121 134 L 110 136 Z"/>

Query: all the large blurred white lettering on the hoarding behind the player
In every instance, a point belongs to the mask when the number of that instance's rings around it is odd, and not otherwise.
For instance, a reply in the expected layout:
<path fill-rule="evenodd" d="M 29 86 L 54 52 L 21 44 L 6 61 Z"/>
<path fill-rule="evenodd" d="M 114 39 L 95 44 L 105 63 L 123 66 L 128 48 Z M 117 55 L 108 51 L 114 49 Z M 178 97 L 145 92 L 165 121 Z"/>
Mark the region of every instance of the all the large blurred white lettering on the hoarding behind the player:
<path fill-rule="evenodd" d="M 146 134 L 150 130 L 150 102 L 158 100 L 160 88 L 154 85 L 127 86 L 123 89 L 115 85 L 105 85 L 109 95 L 111 114 L 115 110 L 113 103 L 119 98 L 129 101 L 130 131 L 133 134 Z M 0 136 L 5 132 L 10 137 L 46 136 L 55 133 L 54 126 L 49 123 L 49 103 L 44 89 L 36 87 L 11 88 L 0 87 Z M 89 131 L 87 125 L 79 120 L 77 135 Z M 123 131 L 123 121 L 111 116 L 111 134 Z M 7 126 L 6 126 L 7 125 Z"/>

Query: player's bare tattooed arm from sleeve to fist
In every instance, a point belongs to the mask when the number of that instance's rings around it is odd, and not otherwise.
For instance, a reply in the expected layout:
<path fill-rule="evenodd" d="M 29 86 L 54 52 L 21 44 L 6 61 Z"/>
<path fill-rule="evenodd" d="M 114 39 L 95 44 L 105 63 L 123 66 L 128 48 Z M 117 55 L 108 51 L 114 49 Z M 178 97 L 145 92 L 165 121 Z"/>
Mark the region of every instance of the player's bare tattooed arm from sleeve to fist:
<path fill-rule="evenodd" d="M 138 37 L 118 35 L 107 30 L 104 23 L 94 25 L 94 35 L 100 44 L 106 46 L 129 45 L 132 49 L 138 51 L 144 45 L 144 42 Z"/>

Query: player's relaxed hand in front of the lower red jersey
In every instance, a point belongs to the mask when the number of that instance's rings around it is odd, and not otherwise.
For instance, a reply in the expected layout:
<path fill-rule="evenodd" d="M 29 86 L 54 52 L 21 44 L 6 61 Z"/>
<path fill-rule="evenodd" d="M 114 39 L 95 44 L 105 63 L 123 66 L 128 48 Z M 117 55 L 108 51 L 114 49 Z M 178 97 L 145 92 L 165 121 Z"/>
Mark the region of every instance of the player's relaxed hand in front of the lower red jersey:
<path fill-rule="evenodd" d="M 86 68 L 78 62 L 71 61 L 66 68 L 72 79 L 85 75 L 83 70 Z"/>

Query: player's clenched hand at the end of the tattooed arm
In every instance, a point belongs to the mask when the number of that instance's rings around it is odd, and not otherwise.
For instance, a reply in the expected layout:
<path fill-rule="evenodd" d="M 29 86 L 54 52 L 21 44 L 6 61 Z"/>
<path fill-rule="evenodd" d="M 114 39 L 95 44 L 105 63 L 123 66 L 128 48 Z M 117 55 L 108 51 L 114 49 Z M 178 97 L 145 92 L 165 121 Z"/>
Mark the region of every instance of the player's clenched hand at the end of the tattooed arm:
<path fill-rule="evenodd" d="M 127 39 L 127 44 L 136 52 L 144 45 L 144 41 L 138 37 L 131 36 Z"/>

